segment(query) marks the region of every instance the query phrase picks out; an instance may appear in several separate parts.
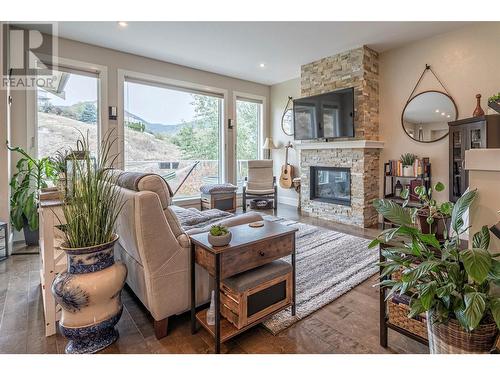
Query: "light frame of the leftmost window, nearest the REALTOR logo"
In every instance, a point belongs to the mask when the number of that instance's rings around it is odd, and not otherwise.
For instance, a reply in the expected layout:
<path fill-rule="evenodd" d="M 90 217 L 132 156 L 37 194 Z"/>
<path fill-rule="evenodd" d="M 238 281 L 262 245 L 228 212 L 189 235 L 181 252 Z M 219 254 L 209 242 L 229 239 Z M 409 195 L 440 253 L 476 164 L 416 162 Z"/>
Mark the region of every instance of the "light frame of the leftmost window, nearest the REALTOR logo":
<path fill-rule="evenodd" d="M 43 62 L 43 58 L 42 58 Z M 89 63 L 80 60 L 67 59 L 63 57 L 57 58 L 57 64 L 54 69 L 65 71 L 74 74 L 90 73 L 97 75 L 97 103 L 99 106 L 99 118 L 97 122 L 97 147 L 102 141 L 103 134 L 109 130 L 108 122 L 108 68 L 104 65 Z M 30 155 L 38 156 L 38 97 L 36 90 L 27 90 L 26 92 L 26 107 L 27 107 L 27 149 Z M 31 109 L 31 110 L 30 110 Z M 30 127 L 29 124 L 33 124 Z"/>

